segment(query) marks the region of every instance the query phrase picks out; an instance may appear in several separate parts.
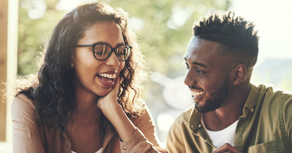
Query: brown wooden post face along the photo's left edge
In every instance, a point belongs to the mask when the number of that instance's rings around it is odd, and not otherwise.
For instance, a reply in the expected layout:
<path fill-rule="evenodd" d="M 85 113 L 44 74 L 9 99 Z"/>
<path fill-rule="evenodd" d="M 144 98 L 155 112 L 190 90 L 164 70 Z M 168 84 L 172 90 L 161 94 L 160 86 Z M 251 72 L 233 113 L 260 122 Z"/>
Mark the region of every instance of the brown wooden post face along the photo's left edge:
<path fill-rule="evenodd" d="M 0 97 L 7 80 L 7 14 L 8 0 L 0 0 Z M 6 141 L 6 102 L 0 101 L 0 141 Z"/>

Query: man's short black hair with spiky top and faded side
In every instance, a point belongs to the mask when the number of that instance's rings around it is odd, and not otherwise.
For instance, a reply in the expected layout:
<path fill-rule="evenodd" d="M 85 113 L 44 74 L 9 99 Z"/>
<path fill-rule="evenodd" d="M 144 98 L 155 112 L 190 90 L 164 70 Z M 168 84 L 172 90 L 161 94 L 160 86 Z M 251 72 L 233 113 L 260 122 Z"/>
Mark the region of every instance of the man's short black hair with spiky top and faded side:
<path fill-rule="evenodd" d="M 219 55 L 244 58 L 246 68 L 253 67 L 258 57 L 258 36 L 253 22 L 235 17 L 234 12 L 211 13 L 195 21 L 192 29 L 197 38 L 221 43 Z"/>

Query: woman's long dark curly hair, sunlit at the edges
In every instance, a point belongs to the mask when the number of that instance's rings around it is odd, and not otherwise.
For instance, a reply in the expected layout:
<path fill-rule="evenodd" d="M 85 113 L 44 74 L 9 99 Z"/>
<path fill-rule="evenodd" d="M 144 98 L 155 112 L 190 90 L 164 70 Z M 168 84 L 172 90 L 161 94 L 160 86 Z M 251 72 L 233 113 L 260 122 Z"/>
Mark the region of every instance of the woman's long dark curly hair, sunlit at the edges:
<path fill-rule="evenodd" d="M 128 25 L 129 14 L 121 8 L 112 8 L 104 3 L 80 5 L 67 13 L 53 30 L 51 39 L 38 62 L 39 72 L 20 77 L 13 89 L 16 95 L 23 93 L 35 103 L 35 117 L 39 124 L 57 128 L 63 133 L 76 108 L 73 71 L 70 57 L 73 46 L 84 36 L 84 31 L 98 21 L 113 21 L 121 27 L 126 45 L 132 45 L 131 55 L 120 72 L 121 87 L 118 102 L 125 113 L 141 116 L 145 112 L 140 99 L 146 81 L 145 60 L 137 36 Z M 8 90 L 8 89 L 6 89 Z M 7 94 L 7 91 L 6 91 Z M 101 122 L 107 120 L 103 115 Z M 105 125 L 101 124 L 101 131 Z"/>

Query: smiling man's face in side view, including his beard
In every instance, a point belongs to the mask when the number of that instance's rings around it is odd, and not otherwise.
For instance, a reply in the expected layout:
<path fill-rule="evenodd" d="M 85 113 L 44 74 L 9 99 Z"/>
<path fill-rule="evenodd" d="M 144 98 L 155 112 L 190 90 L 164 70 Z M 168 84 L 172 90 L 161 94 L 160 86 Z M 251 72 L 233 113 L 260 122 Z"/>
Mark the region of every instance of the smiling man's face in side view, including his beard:
<path fill-rule="evenodd" d="M 192 91 L 195 108 L 201 112 L 216 110 L 229 93 L 229 66 L 218 55 L 219 43 L 192 37 L 185 53 L 185 84 Z"/>

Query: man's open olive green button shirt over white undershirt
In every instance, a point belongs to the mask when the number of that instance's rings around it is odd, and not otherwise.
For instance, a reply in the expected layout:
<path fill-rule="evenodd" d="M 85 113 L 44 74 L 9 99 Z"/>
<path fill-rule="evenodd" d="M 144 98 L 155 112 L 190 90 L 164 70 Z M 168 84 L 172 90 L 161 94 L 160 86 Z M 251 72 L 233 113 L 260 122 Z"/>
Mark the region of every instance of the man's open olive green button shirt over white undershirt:
<path fill-rule="evenodd" d="M 208 153 L 216 149 L 201 124 L 194 106 L 171 126 L 169 153 Z M 270 84 L 251 83 L 237 123 L 234 147 L 244 153 L 292 153 L 292 93 Z"/>

